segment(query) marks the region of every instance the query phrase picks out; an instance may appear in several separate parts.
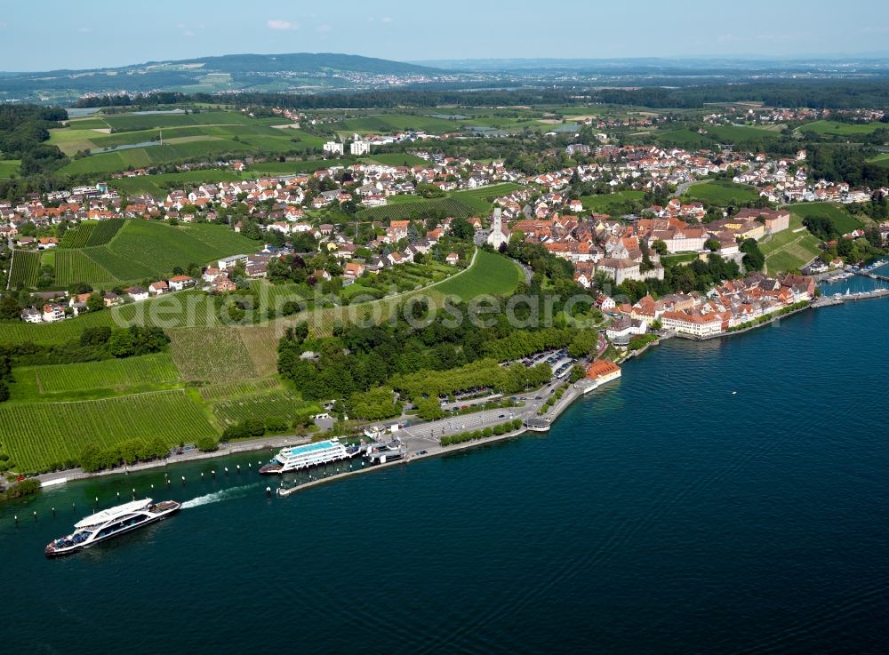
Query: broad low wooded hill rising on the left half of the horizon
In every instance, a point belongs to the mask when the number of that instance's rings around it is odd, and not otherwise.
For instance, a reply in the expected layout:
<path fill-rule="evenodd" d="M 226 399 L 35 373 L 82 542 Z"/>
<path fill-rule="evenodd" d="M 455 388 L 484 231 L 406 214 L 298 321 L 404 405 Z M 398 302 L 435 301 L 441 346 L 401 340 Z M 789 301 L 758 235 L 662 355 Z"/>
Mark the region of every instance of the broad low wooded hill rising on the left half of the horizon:
<path fill-rule="evenodd" d="M 322 92 L 434 81 L 445 71 L 332 52 L 229 54 L 117 68 L 0 72 L 0 100 L 68 103 L 87 93 Z"/>

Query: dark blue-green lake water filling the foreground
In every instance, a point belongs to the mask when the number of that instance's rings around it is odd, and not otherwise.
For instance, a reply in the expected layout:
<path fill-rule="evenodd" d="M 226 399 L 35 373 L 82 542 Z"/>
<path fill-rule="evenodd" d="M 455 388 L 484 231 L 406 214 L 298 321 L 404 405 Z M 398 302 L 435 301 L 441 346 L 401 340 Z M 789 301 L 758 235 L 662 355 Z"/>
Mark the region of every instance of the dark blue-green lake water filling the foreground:
<path fill-rule="evenodd" d="M 868 300 L 732 339 L 674 340 L 549 435 L 288 499 L 266 499 L 252 470 L 211 480 L 220 461 L 171 467 L 187 484 L 156 499 L 207 502 L 63 560 L 42 547 L 95 496 L 107 507 L 117 491 L 163 488 L 163 472 L 5 505 L 0 643 L 32 653 L 886 652 L 887 318 L 889 301 Z M 16 528 L 13 513 L 28 518 Z"/>

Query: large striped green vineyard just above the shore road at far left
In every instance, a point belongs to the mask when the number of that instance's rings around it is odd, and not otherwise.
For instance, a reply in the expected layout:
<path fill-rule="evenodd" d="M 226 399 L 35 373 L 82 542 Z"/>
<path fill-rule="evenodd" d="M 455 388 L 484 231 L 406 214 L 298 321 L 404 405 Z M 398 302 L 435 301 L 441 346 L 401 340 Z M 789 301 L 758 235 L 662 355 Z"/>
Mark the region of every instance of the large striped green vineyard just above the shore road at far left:
<path fill-rule="evenodd" d="M 0 404 L 0 435 L 16 468 L 36 472 L 76 460 L 88 445 L 109 448 L 159 437 L 171 446 L 215 436 L 204 411 L 182 390 L 61 403 Z"/>

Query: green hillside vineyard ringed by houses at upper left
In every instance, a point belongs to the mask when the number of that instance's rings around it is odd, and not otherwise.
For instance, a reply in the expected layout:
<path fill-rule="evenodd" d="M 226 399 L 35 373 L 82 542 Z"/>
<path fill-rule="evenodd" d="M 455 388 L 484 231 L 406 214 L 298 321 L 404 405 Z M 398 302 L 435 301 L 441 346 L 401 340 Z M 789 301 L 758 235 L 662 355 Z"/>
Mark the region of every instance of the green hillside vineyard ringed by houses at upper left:
<path fill-rule="evenodd" d="M 84 228 L 89 231 L 82 232 Z M 84 234 L 88 235 L 85 239 L 88 247 L 74 247 L 73 244 L 84 241 Z M 105 240 L 108 240 L 105 245 L 90 245 Z M 256 244 L 250 239 L 222 226 L 172 227 L 163 222 L 140 219 L 109 220 L 98 226 L 87 224 L 76 229 L 69 245 L 71 247 L 61 248 L 58 252 L 56 283 L 69 286 L 84 282 L 106 288 L 170 276 L 175 267 L 203 265 L 228 255 L 256 250 Z M 19 262 L 15 264 L 18 267 Z M 32 264 L 23 259 L 21 266 Z M 25 272 L 16 275 L 24 276 Z M 33 276 L 22 279 L 36 284 L 36 270 Z"/>

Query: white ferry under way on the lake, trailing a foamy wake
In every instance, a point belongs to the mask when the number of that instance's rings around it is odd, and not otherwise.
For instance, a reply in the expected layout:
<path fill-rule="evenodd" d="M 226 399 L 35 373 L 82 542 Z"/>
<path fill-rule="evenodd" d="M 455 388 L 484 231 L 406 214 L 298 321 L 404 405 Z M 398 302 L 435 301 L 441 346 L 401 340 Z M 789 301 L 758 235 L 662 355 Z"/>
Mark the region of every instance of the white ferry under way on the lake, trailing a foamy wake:
<path fill-rule="evenodd" d="M 125 532 L 138 530 L 166 518 L 182 507 L 175 500 L 156 503 L 152 499 L 133 500 L 124 505 L 103 509 L 75 523 L 75 531 L 55 539 L 44 548 L 47 557 L 70 555 Z"/>

